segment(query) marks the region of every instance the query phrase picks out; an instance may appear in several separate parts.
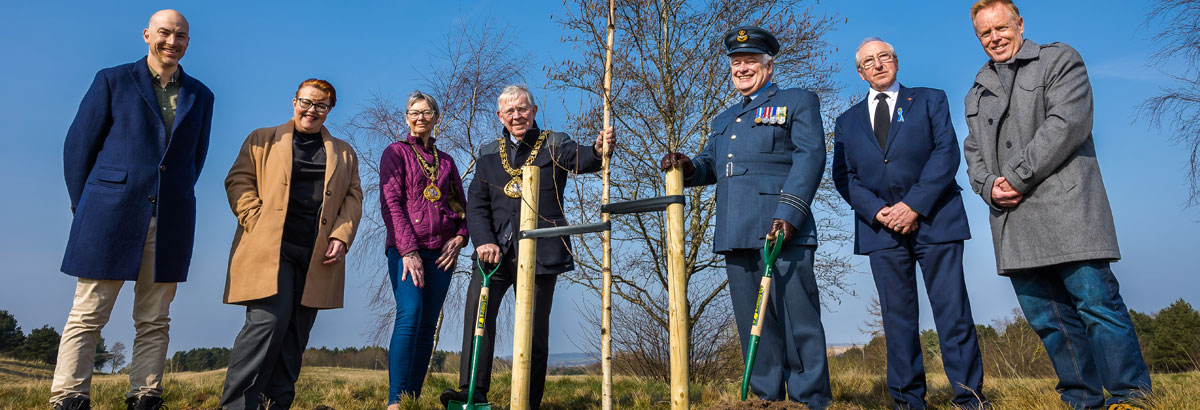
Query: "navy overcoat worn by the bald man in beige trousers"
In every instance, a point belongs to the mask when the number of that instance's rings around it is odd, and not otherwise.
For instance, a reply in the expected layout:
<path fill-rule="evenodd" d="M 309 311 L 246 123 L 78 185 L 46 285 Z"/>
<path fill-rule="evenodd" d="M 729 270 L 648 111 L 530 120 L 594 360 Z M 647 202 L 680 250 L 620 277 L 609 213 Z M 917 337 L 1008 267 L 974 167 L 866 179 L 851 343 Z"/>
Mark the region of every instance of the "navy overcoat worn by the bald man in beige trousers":
<path fill-rule="evenodd" d="M 62 150 L 74 219 L 62 272 L 134 281 L 157 215 L 155 282 L 187 281 L 196 233 L 196 180 L 212 125 L 212 91 L 180 67 L 167 141 L 146 59 L 104 68 L 79 103 Z"/>

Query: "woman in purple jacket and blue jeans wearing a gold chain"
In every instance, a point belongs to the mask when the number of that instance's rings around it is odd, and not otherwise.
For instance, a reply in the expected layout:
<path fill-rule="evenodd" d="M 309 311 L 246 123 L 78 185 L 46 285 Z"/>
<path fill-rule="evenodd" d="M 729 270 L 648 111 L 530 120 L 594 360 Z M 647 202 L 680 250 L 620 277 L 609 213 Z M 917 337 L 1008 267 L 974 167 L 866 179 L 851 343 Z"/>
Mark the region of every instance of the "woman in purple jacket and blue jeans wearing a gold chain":
<path fill-rule="evenodd" d="M 438 313 L 467 242 L 462 177 L 454 158 L 434 147 L 438 103 L 413 91 L 404 116 L 408 138 L 388 146 L 379 161 L 388 272 L 396 297 L 388 352 L 389 410 L 398 409 L 402 396 L 421 394 Z"/>

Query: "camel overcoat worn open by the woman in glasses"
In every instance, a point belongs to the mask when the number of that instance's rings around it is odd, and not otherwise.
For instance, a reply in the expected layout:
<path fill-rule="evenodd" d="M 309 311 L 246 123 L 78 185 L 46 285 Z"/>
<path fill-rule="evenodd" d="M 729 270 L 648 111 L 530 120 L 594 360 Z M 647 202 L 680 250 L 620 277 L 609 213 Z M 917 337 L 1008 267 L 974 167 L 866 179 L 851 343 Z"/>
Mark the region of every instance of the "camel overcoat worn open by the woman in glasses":
<path fill-rule="evenodd" d="M 226 177 L 229 207 L 238 216 L 238 228 L 229 251 L 226 303 L 245 305 L 278 291 L 280 245 L 288 213 L 292 177 L 292 120 L 278 127 L 254 129 L 234 159 Z M 330 239 L 354 242 L 362 216 L 362 187 L 359 158 L 346 141 L 320 128 L 325 143 L 325 199 L 320 227 L 312 249 L 307 282 L 300 305 L 317 309 L 342 307 L 346 288 L 346 260 L 325 265 Z"/>

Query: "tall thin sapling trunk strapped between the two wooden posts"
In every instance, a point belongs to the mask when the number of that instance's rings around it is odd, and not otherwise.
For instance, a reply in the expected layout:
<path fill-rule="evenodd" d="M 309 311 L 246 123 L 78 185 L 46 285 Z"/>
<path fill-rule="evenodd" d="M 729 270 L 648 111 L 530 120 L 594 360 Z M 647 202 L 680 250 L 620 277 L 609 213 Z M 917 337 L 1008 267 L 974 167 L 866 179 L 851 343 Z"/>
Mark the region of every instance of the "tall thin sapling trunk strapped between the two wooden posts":
<path fill-rule="evenodd" d="M 612 127 L 612 36 L 614 31 L 613 14 L 616 14 L 613 0 L 608 0 L 608 46 L 605 49 L 604 59 L 604 127 Z M 605 151 L 611 150 L 608 141 L 604 141 Z M 601 167 L 604 168 L 604 191 L 600 194 L 600 204 L 608 204 L 608 175 L 612 159 L 605 156 Z M 608 213 L 601 213 L 600 219 L 608 222 Z M 612 230 L 605 230 L 600 239 L 602 243 L 602 257 L 600 271 L 604 275 L 604 290 L 601 291 L 600 310 L 600 408 L 612 410 Z"/>

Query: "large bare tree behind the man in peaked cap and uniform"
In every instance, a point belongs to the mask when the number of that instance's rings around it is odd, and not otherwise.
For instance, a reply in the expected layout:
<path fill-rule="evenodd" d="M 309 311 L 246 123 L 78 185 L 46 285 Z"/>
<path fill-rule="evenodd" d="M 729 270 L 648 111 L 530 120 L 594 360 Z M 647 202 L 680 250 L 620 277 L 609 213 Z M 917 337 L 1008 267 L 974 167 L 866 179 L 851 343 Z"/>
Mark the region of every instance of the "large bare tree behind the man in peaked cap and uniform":
<path fill-rule="evenodd" d="M 571 127 L 576 134 L 594 135 L 600 131 L 607 7 L 587 0 L 565 2 L 568 11 L 559 20 L 568 30 L 563 41 L 572 43 L 577 53 L 546 70 L 552 86 L 590 97 L 575 113 Z M 836 100 L 839 88 L 829 76 L 836 68 L 828 61 L 832 48 L 823 41 L 835 23 L 832 17 L 814 14 L 808 1 L 626 0 L 618 1 L 616 14 L 613 127 L 624 149 L 612 161 L 613 201 L 661 195 L 662 174 L 658 168 L 661 155 L 695 153 L 708 141 L 712 119 L 734 101 L 728 61 L 720 42 L 721 32 L 728 28 L 756 24 L 774 32 L 782 50 L 774 60 L 773 82 L 817 92 L 827 102 L 823 109 L 827 119 L 840 111 L 838 104 L 828 103 Z M 830 132 L 827 128 L 828 140 Z M 578 215 L 576 221 L 599 221 L 594 200 L 598 195 L 586 194 L 598 189 L 598 177 L 577 182 L 582 185 L 581 194 L 570 203 L 571 212 Z M 719 354 L 736 336 L 721 337 L 733 332 L 724 263 L 712 253 L 714 195 L 713 189 L 694 188 L 685 197 L 690 374 L 696 381 L 718 380 L 727 378 L 730 368 L 740 368 L 742 358 L 740 352 L 733 357 Z M 828 171 L 815 203 L 823 243 L 816 273 L 823 302 L 836 301 L 845 291 L 844 277 L 852 271 L 848 257 L 839 255 L 838 248 L 848 243 L 851 233 L 842 222 L 847 211 Z M 618 370 L 655 378 L 668 373 L 664 229 L 664 216 L 659 213 L 613 218 L 614 364 Z M 600 236 L 584 235 L 577 243 L 575 260 L 580 269 L 566 278 L 599 293 Z M 599 318 L 590 318 L 599 328 Z M 737 349 L 736 343 L 732 349 Z M 724 363 L 704 362 L 722 357 Z M 622 363 L 628 366 L 622 368 Z"/>

